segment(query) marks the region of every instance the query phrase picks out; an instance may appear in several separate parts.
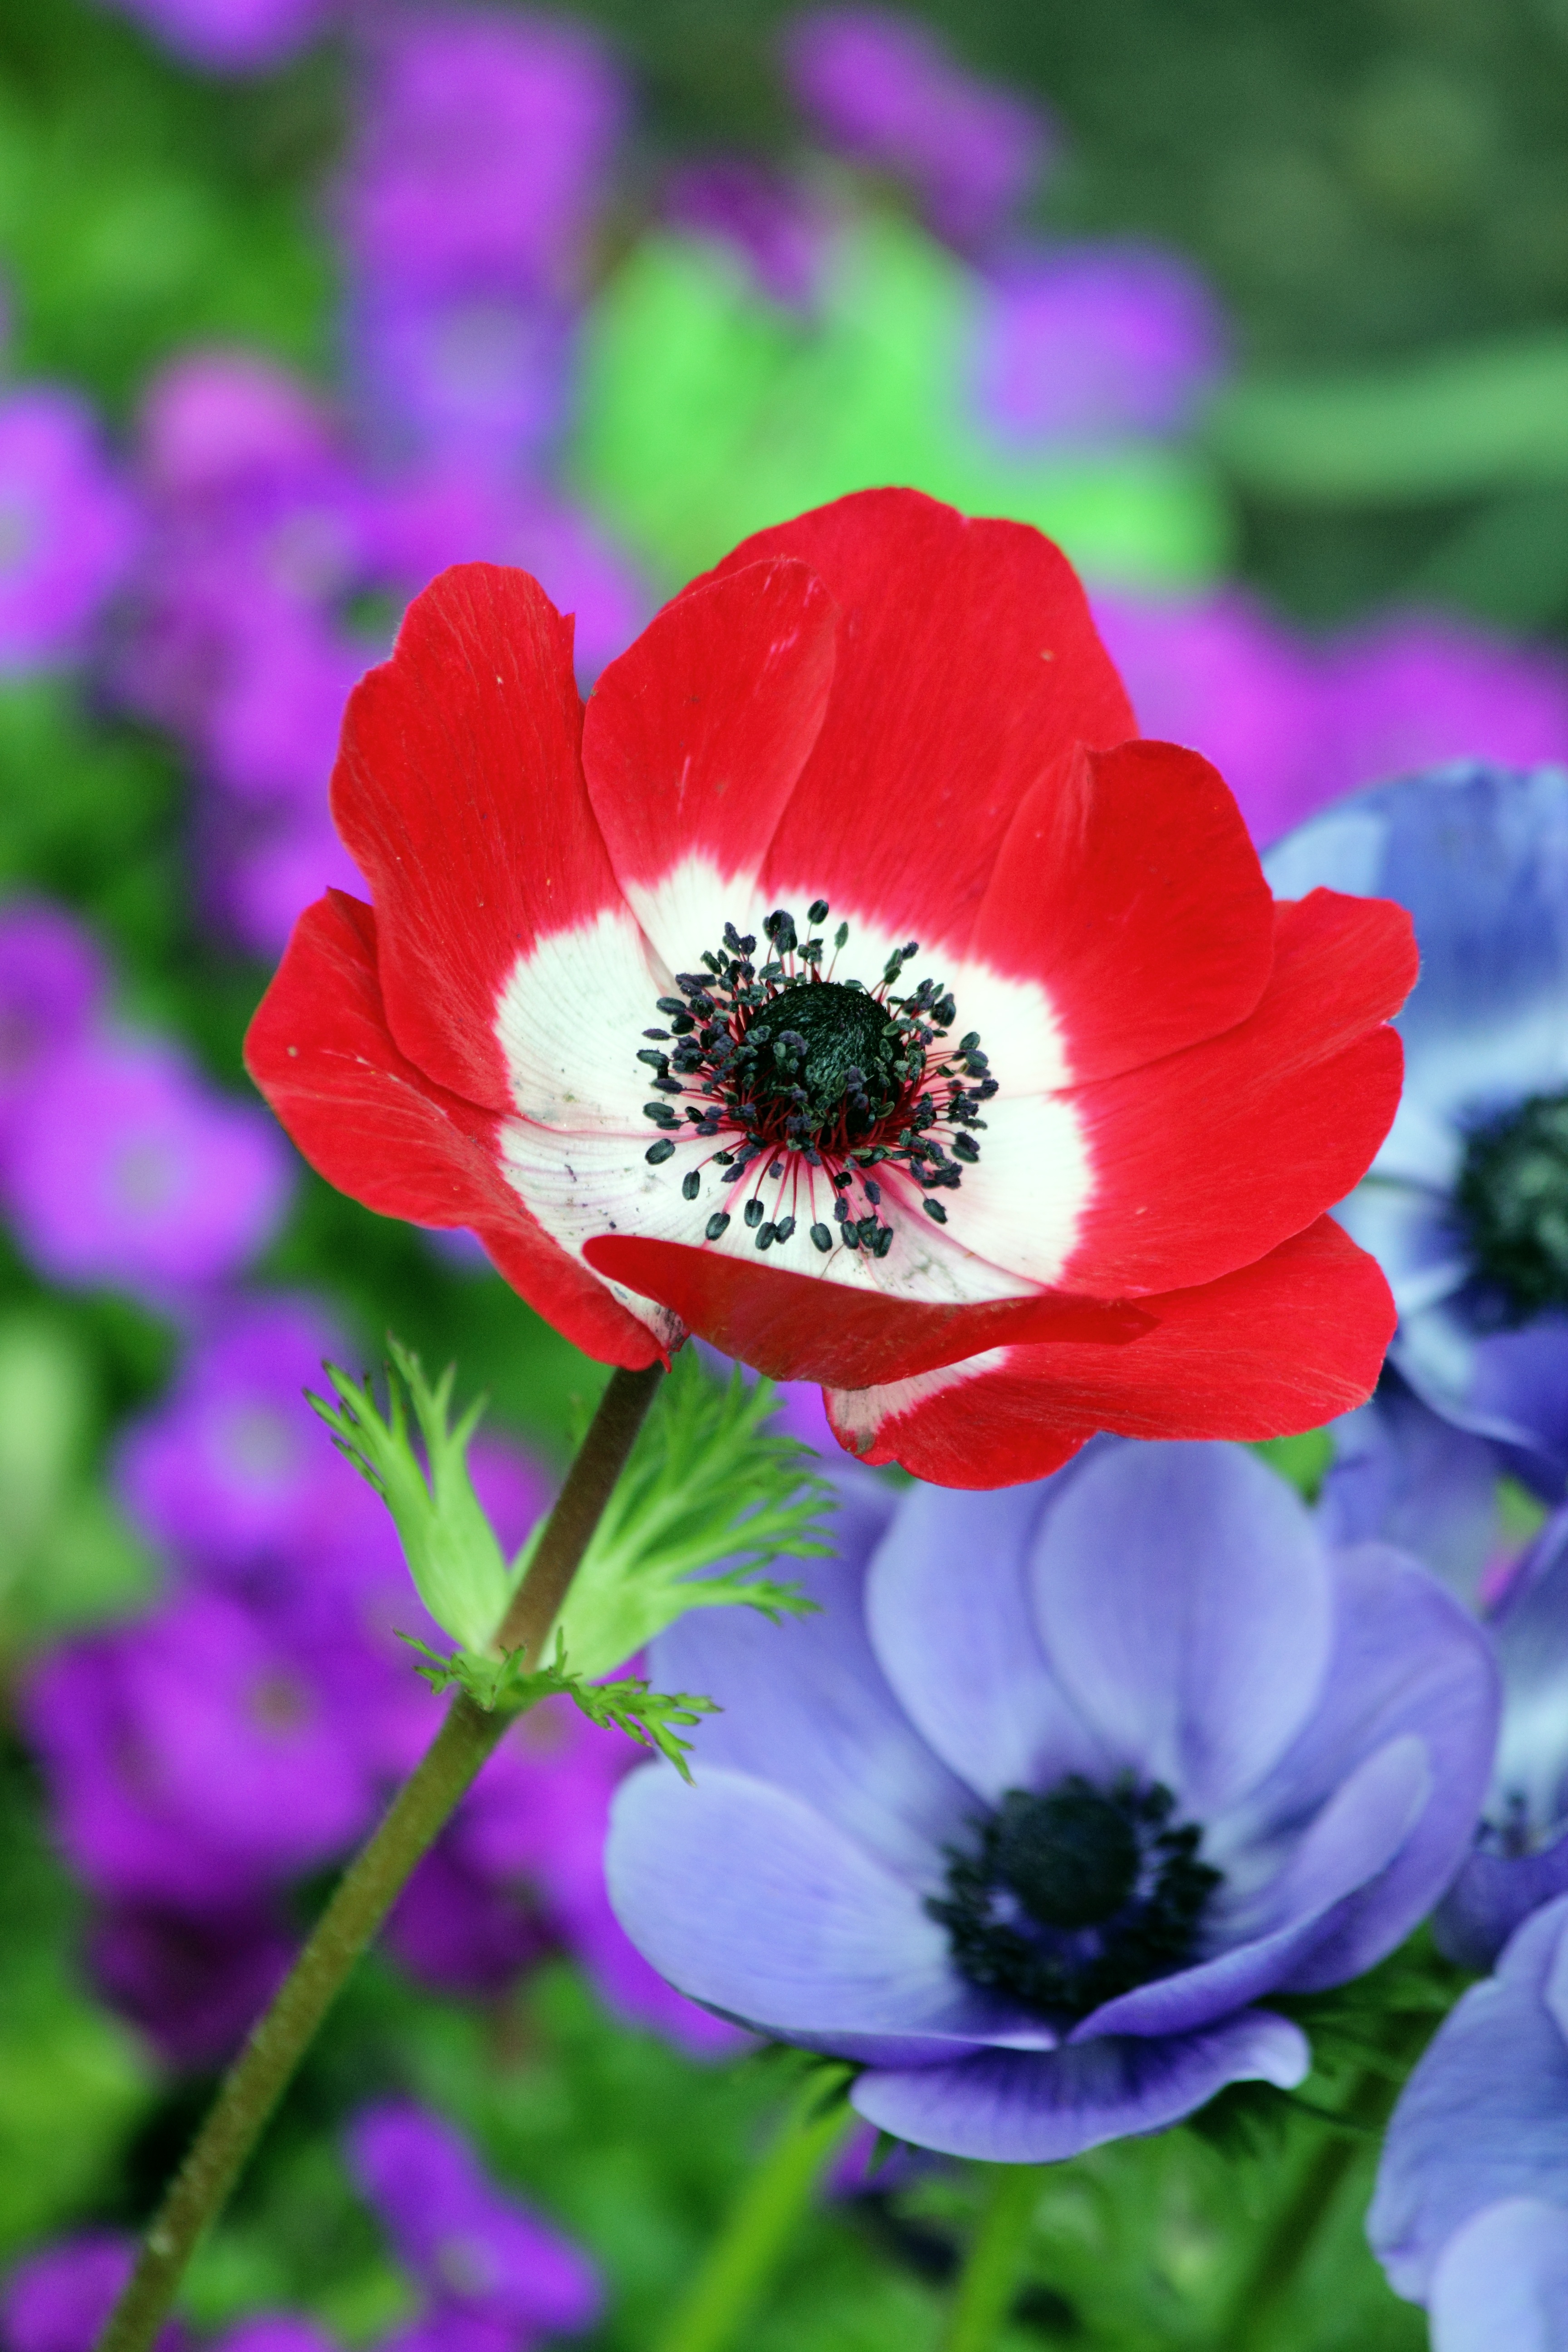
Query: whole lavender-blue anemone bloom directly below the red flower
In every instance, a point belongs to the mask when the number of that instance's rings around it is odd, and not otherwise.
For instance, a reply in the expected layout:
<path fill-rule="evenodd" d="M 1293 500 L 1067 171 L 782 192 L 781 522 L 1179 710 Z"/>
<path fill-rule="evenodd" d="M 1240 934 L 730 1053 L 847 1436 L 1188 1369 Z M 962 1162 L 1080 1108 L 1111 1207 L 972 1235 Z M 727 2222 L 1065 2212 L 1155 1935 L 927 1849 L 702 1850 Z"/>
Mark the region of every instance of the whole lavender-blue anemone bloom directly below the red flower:
<path fill-rule="evenodd" d="M 696 1790 L 651 1766 L 616 1797 L 635 1943 L 863 2060 L 860 2114 L 947 2154 L 1048 2161 L 1300 2082 L 1255 2004 L 1389 1952 L 1474 1828 L 1497 1698 L 1460 1604 L 1399 1552 L 1328 1555 L 1234 1446 L 863 1494 L 839 1529 L 823 1616 L 654 1646 L 726 1712 Z"/>

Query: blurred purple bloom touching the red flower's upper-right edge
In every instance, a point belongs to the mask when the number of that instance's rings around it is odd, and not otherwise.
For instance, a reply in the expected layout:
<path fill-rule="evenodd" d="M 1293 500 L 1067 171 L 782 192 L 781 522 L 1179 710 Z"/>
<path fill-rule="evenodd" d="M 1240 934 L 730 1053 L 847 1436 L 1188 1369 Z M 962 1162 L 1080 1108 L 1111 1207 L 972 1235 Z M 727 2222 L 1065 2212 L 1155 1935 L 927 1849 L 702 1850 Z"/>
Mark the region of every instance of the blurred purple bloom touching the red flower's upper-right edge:
<path fill-rule="evenodd" d="M 1140 731 L 1213 760 L 1253 840 L 1274 840 L 1321 802 L 1314 666 L 1255 597 L 1244 588 L 1190 604 L 1095 595 L 1095 621 Z"/>

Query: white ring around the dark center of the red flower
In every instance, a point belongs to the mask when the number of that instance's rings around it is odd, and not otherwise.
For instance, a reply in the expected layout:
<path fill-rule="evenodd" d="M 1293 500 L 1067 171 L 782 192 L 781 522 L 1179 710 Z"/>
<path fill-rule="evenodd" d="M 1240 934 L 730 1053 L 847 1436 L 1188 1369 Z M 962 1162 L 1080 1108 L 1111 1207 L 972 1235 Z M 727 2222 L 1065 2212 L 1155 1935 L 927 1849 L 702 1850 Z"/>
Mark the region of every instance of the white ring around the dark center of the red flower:
<path fill-rule="evenodd" d="M 733 1134 L 698 1138 L 684 1122 L 684 1134 L 665 1131 L 675 1152 L 649 1167 L 646 1148 L 661 1131 L 644 1117 L 644 1103 L 661 1089 L 637 1051 L 642 1033 L 661 1025 L 656 1000 L 672 993 L 675 971 L 701 969 L 703 950 L 719 948 L 724 922 L 762 938 L 764 906 L 755 882 L 726 882 L 705 856 L 684 858 L 635 898 L 642 924 L 625 906 L 604 908 L 520 955 L 496 1004 L 496 1037 L 520 1110 L 501 1129 L 501 1167 L 552 1240 L 574 1256 L 609 1232 L 738 1256 L 757 1247 L 755 1228 L 741 1218 L 745 1200 L 757 1197 L 766 1223 L 795 1216 L 795 1232 L 780 1244 L 785 1256 L 769 1254 L 788 1272 L 926 1305 L 1018 1298 L 1058 1279 L 1077 1244 L 1093 1167 L 1074 1103 L 1051 1091 L 1070 1070 L 1060 1023 L 1034 981 L 1011 981 L 985 964 L 947 960 L 940 946 L 922 946 L 907 969 L 910 985 L 929 971 L 952 990 L 959 1028 L 980 1033 L 999 1091 L 980 1105 L 980 1160 L 964 1167 L 957 1190 L 933 1195 L 950 1223 L 929 1218 L 922 1188 L 884 1162 L 867 1174 L 896 1240 L 886 1256 L 851 1251 L 837 1240 L 827 1174 L 797 1155 L 780 1178 L 748 1169 L 724 1185 L 712 1162 Z M 769 901 L 778 903 L 804 922 L 811 894 L 783 891 Z M 839 922 L 849 922 L 849 943 L 823 971 L 837 962 L 846 978 L 877 988 L 907 934 L 832 908 L 827 936 Z M 701 1101 L 668 1096 L 677 1115 Z M 691 1169 L 703 1188 L 689 1202 L 682 1178 Z M 863 1209 L 858 1192 L 853 1207 Z M 731 1223 L 710 1242 L 708 1218 L 719 1209 Z M 832 1230 L 830 1251 L 816 1249 L 811 1223 Z"/>

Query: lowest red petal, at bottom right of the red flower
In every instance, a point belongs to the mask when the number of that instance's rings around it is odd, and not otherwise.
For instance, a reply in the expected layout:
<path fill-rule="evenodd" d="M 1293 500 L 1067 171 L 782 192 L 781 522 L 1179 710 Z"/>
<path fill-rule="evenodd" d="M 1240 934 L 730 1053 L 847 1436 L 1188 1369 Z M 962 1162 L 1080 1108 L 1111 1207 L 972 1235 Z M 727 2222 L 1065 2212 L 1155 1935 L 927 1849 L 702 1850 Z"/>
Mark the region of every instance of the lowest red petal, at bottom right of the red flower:
<path fill-rule="evenodd" d="M 1009 1348 L 971 1378 L 954 1364 L 950 1385 L 903 1409 L 891 1395 L 860 1458 L 936 1486 L 1016 1486 L 1095 1430 L 1288 1437 L 1363 1404 L 1394 1336 L 1375 1258 L 1328 1216 L 1255 1265 L 1145 1305 L 1157 1324 L 1126 1348 Z M 867 1404 L 827 1399 L 844 1444 L 865 1435 Z"/>

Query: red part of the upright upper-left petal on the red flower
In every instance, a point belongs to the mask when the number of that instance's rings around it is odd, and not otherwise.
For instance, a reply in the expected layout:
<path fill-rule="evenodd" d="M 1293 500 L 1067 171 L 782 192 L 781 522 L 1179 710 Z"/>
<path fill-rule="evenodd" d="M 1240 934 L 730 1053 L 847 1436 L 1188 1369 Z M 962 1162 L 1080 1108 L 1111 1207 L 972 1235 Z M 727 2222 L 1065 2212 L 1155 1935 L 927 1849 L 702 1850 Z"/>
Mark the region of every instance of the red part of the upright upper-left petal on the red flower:
<path fill-rule="evenodd" d="M 489 1110 L 512 1108 L 496 1000 L 517 953 L 621 903 L 581 724 L 571 621 L 501 564 L 414 597 L 343 720 L 331 814 L 376 901 L 388 1025 Z"/>

